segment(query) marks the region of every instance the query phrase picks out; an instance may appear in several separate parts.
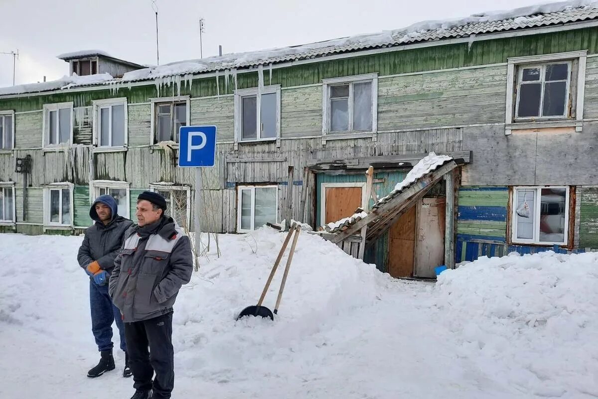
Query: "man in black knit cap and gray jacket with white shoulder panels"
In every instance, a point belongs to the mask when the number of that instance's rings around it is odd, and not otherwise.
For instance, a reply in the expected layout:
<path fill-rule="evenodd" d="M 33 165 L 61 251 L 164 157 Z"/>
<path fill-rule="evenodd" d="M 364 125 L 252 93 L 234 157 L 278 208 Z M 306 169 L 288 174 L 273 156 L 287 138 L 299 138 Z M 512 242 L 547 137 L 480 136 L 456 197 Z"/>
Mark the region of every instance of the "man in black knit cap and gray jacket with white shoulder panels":
<path fill-rule="evenodd" d="M 172 306 L 191 279 L 193 255 L 189 237 L 165 211 L 160 194 L 139 194 L 139 225 L 127 231 L 110 278 L 135 380 L 131 399 L 169 399 L 175 383 Z"/>

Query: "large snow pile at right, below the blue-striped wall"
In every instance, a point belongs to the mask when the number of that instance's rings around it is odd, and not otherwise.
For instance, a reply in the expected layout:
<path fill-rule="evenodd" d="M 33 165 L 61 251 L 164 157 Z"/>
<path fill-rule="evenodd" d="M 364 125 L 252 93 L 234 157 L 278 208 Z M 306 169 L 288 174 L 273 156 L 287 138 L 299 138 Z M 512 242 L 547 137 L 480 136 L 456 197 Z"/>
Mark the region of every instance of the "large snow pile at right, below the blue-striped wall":
<path fill-rule="evenodd" d="M 437 294 L 439 338 L 463 357 L 518 391 L 598 397 L 597 253 L 483 257 L 443 272 Z"/>

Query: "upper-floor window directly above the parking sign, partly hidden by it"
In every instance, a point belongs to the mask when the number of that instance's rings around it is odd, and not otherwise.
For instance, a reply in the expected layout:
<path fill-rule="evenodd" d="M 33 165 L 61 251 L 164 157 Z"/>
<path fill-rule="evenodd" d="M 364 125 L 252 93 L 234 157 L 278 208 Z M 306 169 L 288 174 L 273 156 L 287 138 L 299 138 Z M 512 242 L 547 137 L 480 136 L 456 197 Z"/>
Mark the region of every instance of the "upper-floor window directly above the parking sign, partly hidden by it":
<path fill-rule="evenodd" d="M 190 124 L 188 96 L 152 99 L 152 142 L 179 142 L 179 129 Z"/>

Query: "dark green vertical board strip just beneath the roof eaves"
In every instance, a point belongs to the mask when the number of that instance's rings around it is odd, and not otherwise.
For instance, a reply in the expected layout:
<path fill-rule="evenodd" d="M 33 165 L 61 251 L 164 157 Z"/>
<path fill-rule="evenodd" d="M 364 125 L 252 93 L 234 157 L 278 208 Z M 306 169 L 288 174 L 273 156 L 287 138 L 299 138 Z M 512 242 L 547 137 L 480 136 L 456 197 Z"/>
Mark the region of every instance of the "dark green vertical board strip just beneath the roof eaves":
<path fill-rule="evenodd" d="M 388 53 L 371 54 L 346 59 L 330 60 L 321 63 L 289 66 L 274 69 L 270 80 L 265 68 L 266 84 L 280 84 L 282 87 L 302 86 L 321 83 L 322 79 L 378 72 L 380 76 L 405 74 L 410 72 L 432 71 L 437 69 L 461 68 L 464 66 L 503 63 L 508 57 L 533 54 L 560 53 L 563 51 L 585 50 L 590 54 L 598 51 L 598 29 L 585 28 L 576 31 L 551 32 L 542 35 L 518 36 L 468 43 L 440 45 L 437 47 L 413 48 Z M 257 72 L 239 74 L 237 87 L 257 87 Z M 182 87 L 182 95 L 191 97 L 215 96 L 233 93 L 235 83 L 229 79 L 225 84 L 224 75 L 219 77 L 218 90 L 215 78 L 202 78 L 193 81 L 191 87 Z M 157 92 L 153 82 L 146 86 L 130 89 L 123 85 L 117 93 L 111 90 L 93 92 L 56 93 L 53 95 L 28 96 L 15 99 L 0 99 L 0 109 L 33 111 L 41 109 L 44 103 L 73 101 L 75 106 L 89 106 L 95 99 L 127 97 L 130 103 L 148 102 L 150 98 L 176 95 L 173 86 L 163 86 Z"/>

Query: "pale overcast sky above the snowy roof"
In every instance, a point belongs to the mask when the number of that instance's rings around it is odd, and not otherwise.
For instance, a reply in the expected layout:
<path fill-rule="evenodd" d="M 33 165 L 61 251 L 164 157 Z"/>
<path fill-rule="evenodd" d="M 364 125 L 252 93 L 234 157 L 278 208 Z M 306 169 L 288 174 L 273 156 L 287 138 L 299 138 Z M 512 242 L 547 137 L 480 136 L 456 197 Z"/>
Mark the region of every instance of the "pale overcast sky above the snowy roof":
<path fill-rule="evenodd" d="M 155 0 L 160 64 L 398 29 L 422 20 L 508 10 L 540 0 Z M 548 1 L 545 1 L 548 2 Z M 156 63 L 151 0 L 0 0 L 0 52 L 19 49 L 16 83 L 68 74 L 60 53 L 104 50 Z M 13 84 L 13 57 L 0 54 L 0 87 Z"/>

